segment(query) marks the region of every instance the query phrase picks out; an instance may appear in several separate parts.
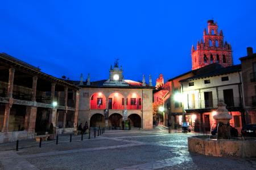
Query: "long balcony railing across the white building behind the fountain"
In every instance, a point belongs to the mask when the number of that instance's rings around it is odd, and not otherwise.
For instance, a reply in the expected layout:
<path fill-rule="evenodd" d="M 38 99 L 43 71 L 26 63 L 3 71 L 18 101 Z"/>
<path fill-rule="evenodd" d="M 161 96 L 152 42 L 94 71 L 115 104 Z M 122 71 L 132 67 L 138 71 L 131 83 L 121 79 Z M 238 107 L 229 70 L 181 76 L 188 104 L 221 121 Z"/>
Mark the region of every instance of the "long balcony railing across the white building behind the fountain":
<path fill-rule="evenodd" d="M 227 108 L 241 107 L 241 98 L 235 97 L 233 99 L 224 100 Z M 199 100 L 189 103 L 184 106 L 184 109 L 216 109 L 218 107 L 218 99 L 212 100 Z"/>

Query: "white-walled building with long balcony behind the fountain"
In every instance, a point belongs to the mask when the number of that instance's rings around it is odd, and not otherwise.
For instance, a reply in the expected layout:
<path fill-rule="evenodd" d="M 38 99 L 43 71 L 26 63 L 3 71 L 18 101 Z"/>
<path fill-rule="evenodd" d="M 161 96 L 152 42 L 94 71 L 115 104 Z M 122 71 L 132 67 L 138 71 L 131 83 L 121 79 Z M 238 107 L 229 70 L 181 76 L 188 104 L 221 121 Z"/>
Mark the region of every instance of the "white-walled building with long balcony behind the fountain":
<path fill-rule="evenodd" d="M 215 63 L 197 69 L 195 76 L 180 81 L 183 109 L 186 122 L 195 131 L 210 131 L 216 127 L 213 115 L 216 114 L 218 101 L 223 100 L 232 115 L 230 125 L 241 131 L 245 125 L 242 105 L 241 65 L 222 67 Z"/>

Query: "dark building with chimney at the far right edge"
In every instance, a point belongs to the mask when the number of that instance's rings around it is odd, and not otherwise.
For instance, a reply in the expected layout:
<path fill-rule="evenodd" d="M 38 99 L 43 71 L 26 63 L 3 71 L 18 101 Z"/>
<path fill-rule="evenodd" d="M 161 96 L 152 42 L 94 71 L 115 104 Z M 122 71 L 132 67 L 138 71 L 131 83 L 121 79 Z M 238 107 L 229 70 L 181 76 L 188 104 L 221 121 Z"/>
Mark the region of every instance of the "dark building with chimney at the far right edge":
<path fill-rule="evenodd" d="M 246 123 L 256 123 L 256 53 L 247 48 L 247 56 L 241 57 L 243 101 Z"/>

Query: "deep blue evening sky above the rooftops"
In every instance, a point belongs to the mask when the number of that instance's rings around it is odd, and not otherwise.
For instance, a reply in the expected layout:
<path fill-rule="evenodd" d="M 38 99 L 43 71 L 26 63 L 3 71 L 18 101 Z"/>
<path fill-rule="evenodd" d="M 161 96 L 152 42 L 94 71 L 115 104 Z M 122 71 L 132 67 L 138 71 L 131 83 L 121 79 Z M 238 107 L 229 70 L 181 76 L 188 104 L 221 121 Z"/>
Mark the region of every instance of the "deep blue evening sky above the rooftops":
<path fill-rule="evenodd" d="M 0 52 L 56 77 L 165 80 L 191 70 L 191 45 L 214 18 L 233 47 L 234 64 L 256 52 L 256 1 L 1 1 Z"/>

